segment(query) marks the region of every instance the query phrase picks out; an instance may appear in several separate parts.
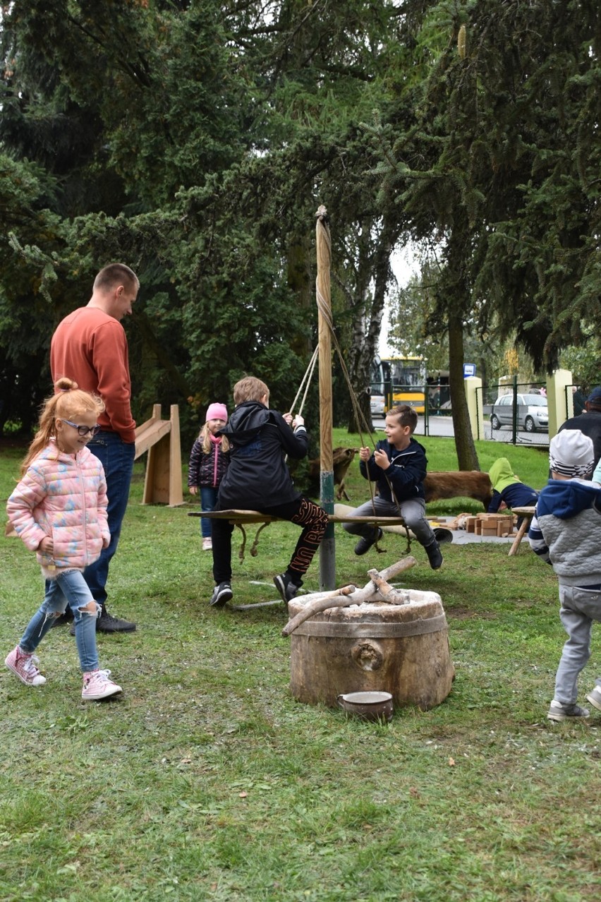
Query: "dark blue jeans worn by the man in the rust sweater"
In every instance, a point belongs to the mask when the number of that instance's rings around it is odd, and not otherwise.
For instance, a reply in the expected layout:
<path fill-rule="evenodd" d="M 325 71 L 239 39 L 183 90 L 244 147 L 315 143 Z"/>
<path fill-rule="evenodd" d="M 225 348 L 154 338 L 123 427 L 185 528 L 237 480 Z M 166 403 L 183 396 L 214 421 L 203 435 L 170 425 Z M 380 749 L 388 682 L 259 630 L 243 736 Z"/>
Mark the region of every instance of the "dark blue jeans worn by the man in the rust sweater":
<path fill-rule="evenodd" d="M 84 577 L 90 587 L 92 597 L 104 607 L 108 566 L 117 550 L 121 525 L 130 495 L 135 444 L 133 442 L 126 444 L 116 432 L 103 430 L 89 441 L 87 446 L 105 468 L 108 529 L 111 533 L 111 541 L 108 547 L 103 548 L 100 552 L 98 560 L 86 567 Z"/>

